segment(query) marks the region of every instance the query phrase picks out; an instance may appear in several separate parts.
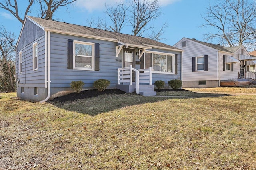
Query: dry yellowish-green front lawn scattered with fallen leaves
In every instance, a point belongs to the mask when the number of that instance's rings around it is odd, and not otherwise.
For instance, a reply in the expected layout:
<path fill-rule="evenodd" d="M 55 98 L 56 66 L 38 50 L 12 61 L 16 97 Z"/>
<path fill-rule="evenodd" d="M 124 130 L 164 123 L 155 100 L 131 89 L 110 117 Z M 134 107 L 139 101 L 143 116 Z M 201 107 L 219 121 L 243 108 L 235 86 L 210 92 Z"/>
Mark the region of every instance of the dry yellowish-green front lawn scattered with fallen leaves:
<path fill-rule="evenodd" d="M 0 93 L 0 169 L 256 169 L 256 95 L 11 96 Z"/>

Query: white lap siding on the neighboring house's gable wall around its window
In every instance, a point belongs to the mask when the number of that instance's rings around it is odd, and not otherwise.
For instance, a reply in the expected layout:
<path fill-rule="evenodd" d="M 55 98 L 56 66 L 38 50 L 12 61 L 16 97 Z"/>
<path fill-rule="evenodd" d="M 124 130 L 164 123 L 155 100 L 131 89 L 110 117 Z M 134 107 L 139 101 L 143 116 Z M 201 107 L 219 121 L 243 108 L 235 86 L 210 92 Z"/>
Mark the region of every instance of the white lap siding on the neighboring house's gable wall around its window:
<path fill-rule="evenodd" d="M 182 41 L 175 47 L 183 49 L 183 81 L 217 80 L 217 50 L 210 49 L 195 42 L 186 41 L 186 47 L 182 47 Z M 192 57 L 208 55 L 208 71 L 192 72 Z"/>

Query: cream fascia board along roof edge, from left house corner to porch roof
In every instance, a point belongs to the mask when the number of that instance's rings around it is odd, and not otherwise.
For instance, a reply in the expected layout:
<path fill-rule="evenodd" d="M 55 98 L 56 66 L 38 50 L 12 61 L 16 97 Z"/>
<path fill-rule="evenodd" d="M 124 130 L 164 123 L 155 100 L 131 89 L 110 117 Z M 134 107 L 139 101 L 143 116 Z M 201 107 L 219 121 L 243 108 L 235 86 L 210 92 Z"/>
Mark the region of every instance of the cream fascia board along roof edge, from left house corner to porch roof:
<path fill-rule="evenodd" d="M 71 36 L 80 36 L 80 37 L 86 37 L 86 38 L 93 38 L 93 39 L 98 39 L 98 40 L 106 40 L 106 41 L 111 41 L 111 42 L 117 42 L 118 40 L 116 38 L 106 38 L 106 37 L 101 37 L 101 36 L 92 36 L 88 34 L 80 34 L 80 33 L 74 33 L 74 32 L 65 32 L 65 31 L 60 31 L 60 30 L 53 30 L 53 29 L 45 29 L 46 31 L 54 32 L 54 33 L 59 33 L 59 34 L 67 34 Z"/>

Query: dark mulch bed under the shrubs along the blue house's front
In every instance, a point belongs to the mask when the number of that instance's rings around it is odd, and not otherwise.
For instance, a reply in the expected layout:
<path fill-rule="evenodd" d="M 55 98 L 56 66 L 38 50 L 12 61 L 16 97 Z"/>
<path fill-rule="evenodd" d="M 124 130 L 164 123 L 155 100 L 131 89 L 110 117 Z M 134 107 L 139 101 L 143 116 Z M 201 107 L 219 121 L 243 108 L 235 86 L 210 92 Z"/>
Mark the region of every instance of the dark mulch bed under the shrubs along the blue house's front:
<path fill-rule="evenodd" d="M 160 92 L 160 91 L 186 91 L 183 89 L 177 89 L 177 90 L 173 90 L 173 89 L 154 89 L 154 91 L 156 92 Z M 104 91 L 98 91 L 97 89 L 94 90 L 84 90 L 81 91 L 81 93 L 70 93 L 68 95 L 64 95 L 64 96 L 60 96 L 60 97 L 56 97 L 52 100 L 50 100 L 49 102 L 66 102 L 66 101 L 74 101 L 77 99 L 85 99 L 85 98 L 92 98 L 92 97 L 96 97 L 98 95 L 104 95 L 104 94 L 124 94 L 125 92 L 119 89 L 106 89 Z"/>

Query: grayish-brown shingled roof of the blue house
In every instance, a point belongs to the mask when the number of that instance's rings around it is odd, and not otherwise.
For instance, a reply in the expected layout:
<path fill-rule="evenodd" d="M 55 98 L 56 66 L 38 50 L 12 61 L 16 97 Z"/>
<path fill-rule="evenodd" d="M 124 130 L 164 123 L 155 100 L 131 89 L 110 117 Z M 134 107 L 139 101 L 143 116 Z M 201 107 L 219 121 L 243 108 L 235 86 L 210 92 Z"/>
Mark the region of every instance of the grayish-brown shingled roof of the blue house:
<path fill-rule="evenodd" d="M 148 44 L 148 45 L 153 45 L 158 47 L 181 50 L 176 47 L 172 47 L 170 45 L 160 43 L 155 40 L 151 40 L 149 38 L 132 36 L 128 34 L 116 33 L 116 32 L 111 32 L 106 30 L 100 30 L 97 28 L 90 28 L 90 27 L 80 26 L 75 24 L 68 24 L 66 22 L 36 18 L 32 16 L 27 16 L 27 17 L 33 20 L 34 22 L 38 23 L 40 26 L 42 26 L 45 29 L 51 29 L 51 30 L 56 30 L 61 32 L 68 32 L 68 33 L 84 34 L 84 35 L 90 35 L 90 36 L 100 36 L 103 38 L 114 38 L 123 43 L 128 43 L 133 45 L 145 46 L 144 44 Z"/>

